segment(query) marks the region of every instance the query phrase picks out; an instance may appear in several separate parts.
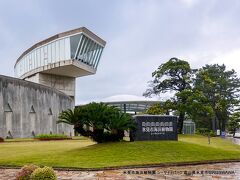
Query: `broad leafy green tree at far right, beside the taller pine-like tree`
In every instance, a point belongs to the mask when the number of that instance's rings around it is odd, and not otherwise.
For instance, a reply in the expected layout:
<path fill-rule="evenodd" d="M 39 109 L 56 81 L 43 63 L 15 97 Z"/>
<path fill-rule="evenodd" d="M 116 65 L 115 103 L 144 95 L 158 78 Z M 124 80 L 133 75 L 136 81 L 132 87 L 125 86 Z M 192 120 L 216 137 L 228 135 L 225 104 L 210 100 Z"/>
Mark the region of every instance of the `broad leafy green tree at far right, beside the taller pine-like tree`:
<path fill-rule="evenodd" d="M 225 65 L 206 65 L 199 69 L 194 89 L 202 92 L 206 98 L 205 106 L 211 108 L 210 121 L 221 131 L 225 131 L 226 122 L 234 106 L 239 103 L 240 79 L 234 70 L 226 70 Z M 211 122 L 210 122 L 211 123 Z"/>

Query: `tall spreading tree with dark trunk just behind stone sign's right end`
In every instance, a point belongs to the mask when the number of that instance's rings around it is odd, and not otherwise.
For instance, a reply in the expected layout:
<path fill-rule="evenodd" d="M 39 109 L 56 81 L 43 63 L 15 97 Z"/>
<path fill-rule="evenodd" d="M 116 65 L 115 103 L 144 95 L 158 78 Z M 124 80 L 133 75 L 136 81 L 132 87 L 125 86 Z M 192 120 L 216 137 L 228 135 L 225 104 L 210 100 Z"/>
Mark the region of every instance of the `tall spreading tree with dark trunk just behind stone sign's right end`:
<path fill-rule="evenodd" d="M 166 92 L 175 91 L 175 93 L 179 93 L 191 89 L 193 73 L 194 70 L 190 68 L 187 61 L 171 58 L 152 73 L 154 80 L 150 82 L 150 88 L 143 95 L 151 97 L 152 95 L 160 95 Z M 182 133 L 186 111 L 183 108 L 179 108 L 178 105 L 185 104 L 186 98 L 176 97 L 171 101 L 172 104 L 175 104 L 173 107 L 179 111 L 178 131 Z"/>

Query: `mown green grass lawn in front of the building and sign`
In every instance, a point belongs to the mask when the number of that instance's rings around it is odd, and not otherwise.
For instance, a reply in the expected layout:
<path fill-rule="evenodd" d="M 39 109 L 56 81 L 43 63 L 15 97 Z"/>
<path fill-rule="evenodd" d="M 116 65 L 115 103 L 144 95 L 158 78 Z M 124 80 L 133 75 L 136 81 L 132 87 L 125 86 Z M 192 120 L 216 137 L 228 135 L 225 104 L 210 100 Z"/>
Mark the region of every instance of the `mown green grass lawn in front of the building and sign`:
<path fill-rule="evenodd" d="M 99 168 L 124 165 L 239 159 L 240 146 L 221 138 L 181 135 L 179 141 L 95 144 L 88 139 L 0 143 L 0 165 L 28 163 Z"/>

